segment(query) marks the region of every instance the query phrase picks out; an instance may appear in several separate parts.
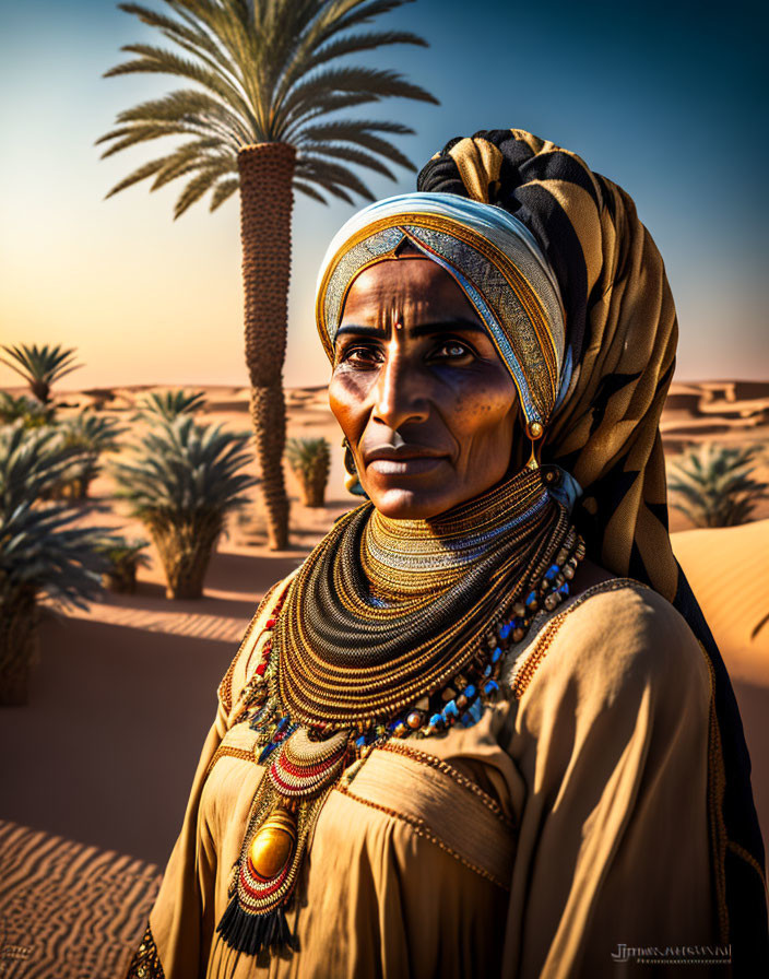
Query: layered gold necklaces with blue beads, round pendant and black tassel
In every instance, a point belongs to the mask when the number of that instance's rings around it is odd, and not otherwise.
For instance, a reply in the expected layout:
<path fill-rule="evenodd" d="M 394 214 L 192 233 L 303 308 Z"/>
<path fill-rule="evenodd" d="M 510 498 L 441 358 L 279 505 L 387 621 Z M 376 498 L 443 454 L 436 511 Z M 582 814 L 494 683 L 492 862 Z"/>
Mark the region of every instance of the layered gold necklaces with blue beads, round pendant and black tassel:
<path fill-rule="evenodd" d="M 331 790 L 391 738 L 476 723 L 510 649 L 584 556 L 541 469 L 429 520 L 366 503 L 307 557 L 267 623 L 244 696 L 262 777 L 217 932 L 291 946 L 285 908 Z"/>

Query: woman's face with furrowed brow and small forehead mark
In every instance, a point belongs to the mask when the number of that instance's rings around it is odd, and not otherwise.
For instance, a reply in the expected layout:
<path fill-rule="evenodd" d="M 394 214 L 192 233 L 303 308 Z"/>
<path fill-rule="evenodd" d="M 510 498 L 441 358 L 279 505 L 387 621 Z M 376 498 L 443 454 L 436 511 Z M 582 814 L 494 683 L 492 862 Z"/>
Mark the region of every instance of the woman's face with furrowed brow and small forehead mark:
<path fill-rule="evenodd" d="M 388 517 L 435 517 L 507 471 L 516 387 L 470 300 L 429 259 L 388 259 L 354 281 L 329 403 Z"/>

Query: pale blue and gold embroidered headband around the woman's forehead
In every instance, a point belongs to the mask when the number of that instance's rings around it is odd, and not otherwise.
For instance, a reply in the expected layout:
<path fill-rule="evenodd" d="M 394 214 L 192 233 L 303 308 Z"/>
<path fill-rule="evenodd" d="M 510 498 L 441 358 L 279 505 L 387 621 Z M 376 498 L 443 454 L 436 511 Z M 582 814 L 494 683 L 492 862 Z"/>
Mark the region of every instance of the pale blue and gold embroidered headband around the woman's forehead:
<path fill-rule="evenodd" d="M 510 370 L 525 421 L 545 424 L 564 374 L 558 283 L 529 228 L 501 208 L 452 193 L 405 193 L 354 215 L 331 241 L 318 281 L 329 358 L 356 275 L 394 257 L 404 239 L 454 279 Z"/>

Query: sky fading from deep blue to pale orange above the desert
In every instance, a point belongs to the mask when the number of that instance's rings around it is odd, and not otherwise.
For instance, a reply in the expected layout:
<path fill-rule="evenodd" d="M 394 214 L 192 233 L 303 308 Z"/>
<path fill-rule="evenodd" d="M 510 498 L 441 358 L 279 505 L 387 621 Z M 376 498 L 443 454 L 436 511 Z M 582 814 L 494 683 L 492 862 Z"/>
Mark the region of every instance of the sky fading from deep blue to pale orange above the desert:
<path fill-rule="evenodd" d="M 430 48 L 392 48 L 377 63 L 441 105 L 390 101 L 368 115 L 413 126 L 400 145 L 417 165 L 451 137 L 510 126 L 578 152 L 635 198 L 665 259 L 676 377 L 768 378 L 761 22 L 762 4 L 740 0 L 417 0 L 378 26 L 414 30 Z M 102 74 L 122 44 L 159 35 L 110 0 L 0 0 L 0 38 L 2 342 L 76 346 L 85 367 L 71 385 L 245 385 L 236 198 L 213 215 L 199 202 L 176 222 L 181 184 L 104 200 L 163 143 L 100 161 L 95 140 L 120 110 L 179 85 Z M 414 178 L 365 177 L 378 197 L 414 189 Z M 288 385 L 328 380 L 315 280 L 352 212 L 295 202 Z M 14 377 L 0 366 L 0 385 Z"/>

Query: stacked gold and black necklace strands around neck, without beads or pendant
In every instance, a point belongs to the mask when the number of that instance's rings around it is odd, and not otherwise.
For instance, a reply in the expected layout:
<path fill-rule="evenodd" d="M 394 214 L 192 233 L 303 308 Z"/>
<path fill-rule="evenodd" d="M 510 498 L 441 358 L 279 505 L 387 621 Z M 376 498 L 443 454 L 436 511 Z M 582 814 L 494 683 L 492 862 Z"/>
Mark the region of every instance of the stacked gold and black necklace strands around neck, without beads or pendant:
<path fill-rule="evenodd" d="M 286 595 L 273 639 L 281 704 L 322 730 L 391 720 L 470 664 L 566 530 L 539 470 L 431 520 L 353 510 Z"/>

